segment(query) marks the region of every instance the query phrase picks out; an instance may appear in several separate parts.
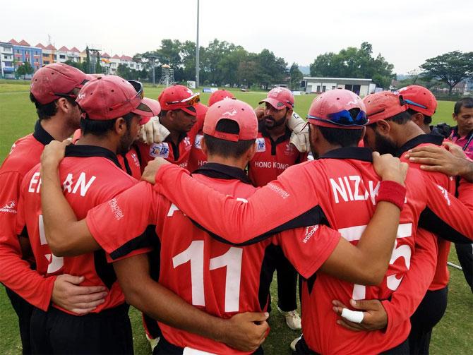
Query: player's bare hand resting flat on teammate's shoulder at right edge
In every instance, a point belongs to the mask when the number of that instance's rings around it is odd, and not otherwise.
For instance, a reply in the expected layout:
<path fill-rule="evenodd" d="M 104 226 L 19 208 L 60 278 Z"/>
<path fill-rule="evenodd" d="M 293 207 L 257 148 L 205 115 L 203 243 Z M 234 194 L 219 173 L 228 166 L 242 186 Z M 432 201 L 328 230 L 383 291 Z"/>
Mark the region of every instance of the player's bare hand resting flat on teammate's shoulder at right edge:
<path fill-rule="evenodd" d="M 426 172 L 441 172 L 450 176 L 467 175 L 473 166 L 462 148 L 450 142 L 443 143 L 443 148 L 434 145 L 414 148 L 406 157 L 410 162 L 421 164 L 420 168 Z"/>

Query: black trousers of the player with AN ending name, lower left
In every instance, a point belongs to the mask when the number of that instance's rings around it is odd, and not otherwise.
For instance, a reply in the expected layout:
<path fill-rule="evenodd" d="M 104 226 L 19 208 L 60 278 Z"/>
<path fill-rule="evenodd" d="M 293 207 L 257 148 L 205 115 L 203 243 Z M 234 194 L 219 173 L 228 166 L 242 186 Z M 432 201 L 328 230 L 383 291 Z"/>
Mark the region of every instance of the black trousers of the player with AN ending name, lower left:
<path fill-rule="evenodd" d="M 128 305 L 87 315 L 35 309 L 31 347 L 33 354 L 133 354 Z"/>

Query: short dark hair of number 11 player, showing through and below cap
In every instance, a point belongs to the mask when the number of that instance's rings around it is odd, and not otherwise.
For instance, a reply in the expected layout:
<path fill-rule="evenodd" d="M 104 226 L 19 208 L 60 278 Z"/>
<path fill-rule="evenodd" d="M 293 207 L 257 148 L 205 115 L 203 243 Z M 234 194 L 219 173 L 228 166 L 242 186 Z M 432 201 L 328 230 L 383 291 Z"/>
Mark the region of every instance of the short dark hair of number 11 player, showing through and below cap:
<path fill-rule="evenodd" d="M 221 119 L 217 123 L 215 128 L 217 131 L 231 134 L 238 134 L 240 128 L 235 121 L 231 119 Z M 210 154 L 239 158 L 241 155 L 251 148 L 251 145 L 255 144 L 256 139 L 239 140 L 238 142 L 232 142 L 231 140 L 224 140 L 215 138 L 204 133 L 205 145 L 207 145 Z"/>

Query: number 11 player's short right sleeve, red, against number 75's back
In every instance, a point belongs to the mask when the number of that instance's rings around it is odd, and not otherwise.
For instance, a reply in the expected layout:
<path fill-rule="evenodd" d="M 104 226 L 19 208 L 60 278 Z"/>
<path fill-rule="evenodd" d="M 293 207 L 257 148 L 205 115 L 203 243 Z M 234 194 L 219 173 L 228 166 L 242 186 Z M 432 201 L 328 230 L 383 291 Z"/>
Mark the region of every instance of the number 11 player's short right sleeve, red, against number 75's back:
<path fill-rule="evenodd" d="M 316 224 L 283 231 L 275 240 L 297 272 L 309 279 L 333 253 L 340 236 L 338 231 Z"/>

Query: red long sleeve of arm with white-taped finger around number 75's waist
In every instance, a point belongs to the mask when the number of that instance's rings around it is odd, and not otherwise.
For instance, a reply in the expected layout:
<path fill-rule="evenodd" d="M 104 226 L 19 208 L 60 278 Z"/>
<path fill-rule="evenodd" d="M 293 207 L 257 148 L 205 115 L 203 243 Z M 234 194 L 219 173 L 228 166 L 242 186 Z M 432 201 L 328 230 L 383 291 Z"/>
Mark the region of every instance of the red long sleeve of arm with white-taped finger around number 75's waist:
<path fill-rule="evenodd" d="M 437 263 L 437 238 L 425 229 L 417 229 L 415 250 L 409 271 L 402 279 L 390 301 L 382 301 L 388 314 L 385 332 L 401 325 L 410 318 L 431 285 Z"/>

